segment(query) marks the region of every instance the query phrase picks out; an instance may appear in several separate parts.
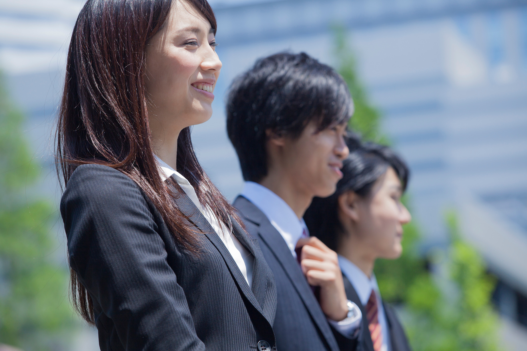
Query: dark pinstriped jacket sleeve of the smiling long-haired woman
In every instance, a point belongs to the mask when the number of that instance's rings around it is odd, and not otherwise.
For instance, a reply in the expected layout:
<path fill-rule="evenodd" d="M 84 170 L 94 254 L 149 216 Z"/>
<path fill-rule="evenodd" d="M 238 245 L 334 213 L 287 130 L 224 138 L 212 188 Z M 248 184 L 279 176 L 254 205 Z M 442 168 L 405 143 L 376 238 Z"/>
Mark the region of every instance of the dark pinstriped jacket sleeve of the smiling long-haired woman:
<path fill-rule="evenodd" d="M 81 165 L 61 201 L 70 265 L 126 350 L 204 350 L 183 289 L 137 184 Z M 97 316 L 96 316 L 97 317 Z M 97 328 L 108 325 L 97 323 Z"/>

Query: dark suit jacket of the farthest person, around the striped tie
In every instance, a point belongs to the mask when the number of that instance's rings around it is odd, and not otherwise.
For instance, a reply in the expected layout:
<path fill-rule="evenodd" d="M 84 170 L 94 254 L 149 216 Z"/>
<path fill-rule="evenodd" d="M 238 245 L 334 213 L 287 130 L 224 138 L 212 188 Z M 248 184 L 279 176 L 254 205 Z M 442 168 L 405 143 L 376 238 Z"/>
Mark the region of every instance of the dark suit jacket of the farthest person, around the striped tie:
<path fill-rule="evenodd" d="M 359 350 L 360 351 L 374 351 L 372 336 L 369 334 L 368 329 L 368 318 L 366 318 L 366 308 L 360 302 L 360 299 L 357 295 L 357 291 L 353 287 L 352 283 L 346 276 L 343 276 L 344 279 L 344 288 L 346 289 L 346 296 L 348 300 L 353 301 L 363 314 L 362 319 L 362 330 L 360 333 L 359 339 Z M 392 344 L 392 351 L 411 351 L 410 345 L 408 344 L 408 339 L 404 333 L 403 326 L 399 322 L 397 315 L 392 306 L 384 303 L 383 301 L 384 314 L 386 315 L 386 324 L 388 325 L 389 334 L 390 334 L 390 343 Z"/>

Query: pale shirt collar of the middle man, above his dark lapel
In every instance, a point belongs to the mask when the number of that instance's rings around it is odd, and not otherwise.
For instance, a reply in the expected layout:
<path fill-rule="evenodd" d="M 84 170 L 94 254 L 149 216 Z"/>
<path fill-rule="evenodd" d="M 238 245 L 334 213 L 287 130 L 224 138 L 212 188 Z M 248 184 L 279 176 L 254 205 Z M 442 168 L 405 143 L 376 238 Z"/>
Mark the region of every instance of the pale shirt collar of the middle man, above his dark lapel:
<path fill-rule="evenodd" d="M 307 230 L 304 219 L 298 219 L 295 212 L 282 198 L 258 183 L 245 182 L 241 195 L 264 212 L 286 241 L 292 255 L 296 256 L 296 243 L 304 229 Z"/>

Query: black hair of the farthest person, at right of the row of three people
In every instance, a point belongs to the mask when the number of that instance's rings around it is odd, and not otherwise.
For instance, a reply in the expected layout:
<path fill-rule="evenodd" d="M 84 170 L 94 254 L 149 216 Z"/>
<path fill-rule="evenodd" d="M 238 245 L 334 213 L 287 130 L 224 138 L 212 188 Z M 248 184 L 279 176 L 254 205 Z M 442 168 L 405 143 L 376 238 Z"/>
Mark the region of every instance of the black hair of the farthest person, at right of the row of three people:
<path fill-rule="evenodd" d="M 354 191 L 360 197 L 368 197 L 373 185 L 386 173 L 388 167 L 392 167 L 401 180 L 403 192 L 409 179 L 408 166 L 392 149 L 372 142 L 357 148 L 356 140 L 349 142 L 353 143 L 355 150 L 344 160 L 344 176 L 337 183 L 336 192 L 327 198 L 314 198 L 304 214 L 309 234 L 335 251 L 339 236 L 344 234 L 338 218 L 338 198 L 341 194 Z M 349 149 L 352 150 L 352 145 L 349 145 Z"/>

